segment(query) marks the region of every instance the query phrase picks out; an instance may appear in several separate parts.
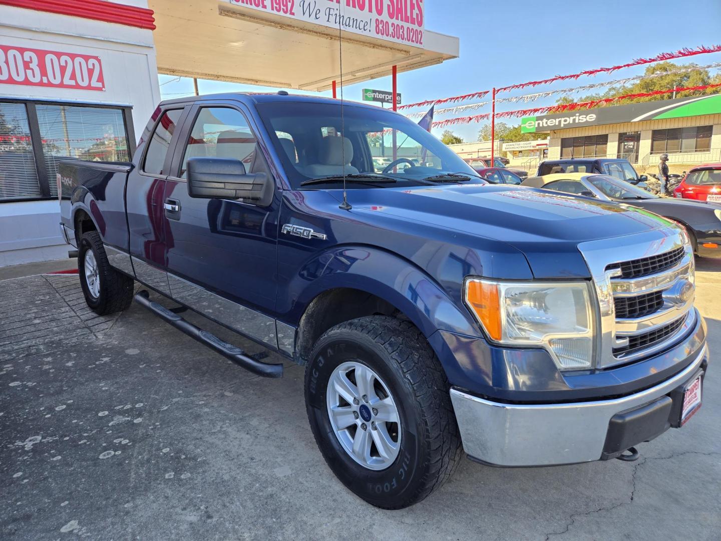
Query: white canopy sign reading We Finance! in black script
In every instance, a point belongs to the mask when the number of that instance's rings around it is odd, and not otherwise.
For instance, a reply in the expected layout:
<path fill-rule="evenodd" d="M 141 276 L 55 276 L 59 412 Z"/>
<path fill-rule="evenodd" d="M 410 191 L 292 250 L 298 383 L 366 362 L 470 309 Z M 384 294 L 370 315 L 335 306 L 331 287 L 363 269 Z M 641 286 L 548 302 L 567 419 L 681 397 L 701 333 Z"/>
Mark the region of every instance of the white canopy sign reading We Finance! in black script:
<path fill-rule="evenodd" d="M 228 0 L 298 21 L 423 48 L 423 0 Z M 342 9 L 341 9 L 342 2 Z"/>

